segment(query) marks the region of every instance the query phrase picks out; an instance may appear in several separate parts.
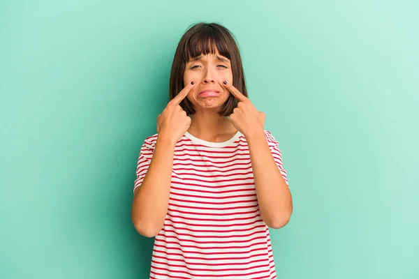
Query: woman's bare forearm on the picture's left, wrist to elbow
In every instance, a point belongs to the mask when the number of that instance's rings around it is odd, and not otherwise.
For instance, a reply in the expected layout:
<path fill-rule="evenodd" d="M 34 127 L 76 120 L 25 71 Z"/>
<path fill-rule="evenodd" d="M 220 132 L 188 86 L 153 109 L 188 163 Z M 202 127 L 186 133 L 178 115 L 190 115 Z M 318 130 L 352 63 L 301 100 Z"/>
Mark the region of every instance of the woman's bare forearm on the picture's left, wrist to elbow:
<path fill-rule="evenodd" d="M 147 174 L 135 190 L 131 219 L 135 229 L 144 236 L 155 236 L 163 227 L 168 211 L 174 151 L 174 143 L 158 138 Z"/>

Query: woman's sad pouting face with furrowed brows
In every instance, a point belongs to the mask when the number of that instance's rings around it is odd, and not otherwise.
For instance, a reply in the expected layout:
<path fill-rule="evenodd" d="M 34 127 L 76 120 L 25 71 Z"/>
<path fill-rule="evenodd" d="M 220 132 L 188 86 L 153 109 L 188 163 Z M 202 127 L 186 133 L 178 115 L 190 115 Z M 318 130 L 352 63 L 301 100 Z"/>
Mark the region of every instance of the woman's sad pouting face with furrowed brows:
<path fill-rule="evenodd" d="M 205 108 L 221 107 L 230 96 L 230 91 L 223 86 L 223 81 L 233 84 L 233 72 L 230 60 L 216 54 L 206 54 L 191 59 L 186 63 L 184 84 L 195 82 L 189 92 L 188 100 L 199 112 Z"/>

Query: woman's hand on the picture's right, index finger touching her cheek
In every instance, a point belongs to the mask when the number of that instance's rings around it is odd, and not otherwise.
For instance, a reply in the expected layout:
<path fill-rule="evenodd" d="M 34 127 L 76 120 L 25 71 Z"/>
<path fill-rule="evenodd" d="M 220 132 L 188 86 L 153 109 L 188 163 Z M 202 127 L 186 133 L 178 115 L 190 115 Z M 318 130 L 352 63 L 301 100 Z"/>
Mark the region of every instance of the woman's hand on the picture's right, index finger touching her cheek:
<path fill-rule="evenodd" d="M 249 98 L 238 91 L 235 86 L 230 83 L 225 84 L 225 82 L 223 85 L 239 100 L 237 107 L 235 107 L 233 113 L 230 114 L 230 120 L 235 128 L 237 128 L 244 137 L 264 133 L 265 113 L 258 112 Z"/>

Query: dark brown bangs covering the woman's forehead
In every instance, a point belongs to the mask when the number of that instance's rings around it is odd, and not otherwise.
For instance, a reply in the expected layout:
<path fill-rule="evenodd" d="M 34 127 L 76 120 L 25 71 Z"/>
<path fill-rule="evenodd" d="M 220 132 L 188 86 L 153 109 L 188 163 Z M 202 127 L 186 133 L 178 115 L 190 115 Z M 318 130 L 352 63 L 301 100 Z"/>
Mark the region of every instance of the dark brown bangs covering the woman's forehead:
<path fill-rule="evenodd" d="M 220 55 L 231 60 L 224 37 L 225 35 L 221 31 L 213 27 L 199 29 L 186 41 L 182 59 L 186 63 L 189 59 L 194 59 L 200 55 L 216 54 L 218 51 Z"/>

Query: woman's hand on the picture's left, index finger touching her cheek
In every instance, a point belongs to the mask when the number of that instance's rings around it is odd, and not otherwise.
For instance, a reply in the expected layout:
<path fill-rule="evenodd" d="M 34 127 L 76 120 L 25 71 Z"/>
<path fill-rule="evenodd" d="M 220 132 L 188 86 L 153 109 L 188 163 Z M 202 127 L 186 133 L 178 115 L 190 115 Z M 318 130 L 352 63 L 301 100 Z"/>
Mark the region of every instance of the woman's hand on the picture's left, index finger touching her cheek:
<path fill-rule="evenodd" d="M 157 116 L 157 134 L 160 139 L 169 140 L 175 144 L 191 126 L 191 117 L 186 115 L 179 104 L 188 96 L 194 84 L 195 82 L 189 82 Z"/>

